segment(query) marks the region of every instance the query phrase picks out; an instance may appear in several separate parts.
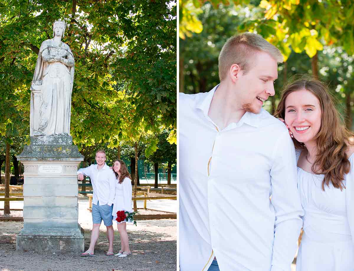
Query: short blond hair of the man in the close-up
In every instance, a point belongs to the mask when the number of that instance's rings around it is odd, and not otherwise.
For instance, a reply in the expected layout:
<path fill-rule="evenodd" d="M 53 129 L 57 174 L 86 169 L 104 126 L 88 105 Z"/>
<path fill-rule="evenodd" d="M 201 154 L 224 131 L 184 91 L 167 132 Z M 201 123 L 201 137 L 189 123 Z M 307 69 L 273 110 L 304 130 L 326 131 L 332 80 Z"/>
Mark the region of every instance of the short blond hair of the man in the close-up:
<path fill-rule="evenodd" d="M 220 82 L 227 77 L 230 66 L 233 64 L 238 64 L 244 73 L 248 72 L 257 52 L 268 53 L 278 63 L 284 60 L 280 50 L 258 34 L 246 32 L 228 39 L 219 54 Z"/>

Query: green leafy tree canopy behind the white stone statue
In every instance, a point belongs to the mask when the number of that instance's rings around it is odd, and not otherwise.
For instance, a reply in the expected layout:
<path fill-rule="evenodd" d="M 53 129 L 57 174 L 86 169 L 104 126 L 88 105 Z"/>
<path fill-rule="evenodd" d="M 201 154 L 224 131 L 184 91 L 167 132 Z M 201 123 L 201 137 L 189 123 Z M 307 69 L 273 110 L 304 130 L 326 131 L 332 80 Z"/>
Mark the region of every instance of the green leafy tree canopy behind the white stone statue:
<path fill-rule="evenodd" d="M 118 146 L 141 131 L 176 128 L 176 3 L 0 1 L 2 135 L 28 134 L 30 84 L 41 42 L 65 20 L 74 54 L 74 143 Z"/>

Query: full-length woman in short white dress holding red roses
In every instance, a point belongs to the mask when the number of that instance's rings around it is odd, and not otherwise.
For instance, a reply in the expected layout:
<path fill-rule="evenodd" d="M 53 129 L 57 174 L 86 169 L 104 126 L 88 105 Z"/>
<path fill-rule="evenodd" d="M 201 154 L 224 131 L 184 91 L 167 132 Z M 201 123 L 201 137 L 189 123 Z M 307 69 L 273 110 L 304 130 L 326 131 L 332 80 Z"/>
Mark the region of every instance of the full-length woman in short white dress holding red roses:
<path fill-rule="evenodd" d="M 126 229 L 126 222 L 116 221 L 118 211 L 132 212 L 132 184 L 129 171 L 122 160 L 115 160 L 113 170 L 117 178 L 115 197 L 113 202 L 113 221 L 117 223 L 117 229 L 120 235 L 121 249 L 115 254 L 118 257 L 127 257 L 131 254 L 129 240 Z M 128 221 L 131 222 L 131 221 Z"/>

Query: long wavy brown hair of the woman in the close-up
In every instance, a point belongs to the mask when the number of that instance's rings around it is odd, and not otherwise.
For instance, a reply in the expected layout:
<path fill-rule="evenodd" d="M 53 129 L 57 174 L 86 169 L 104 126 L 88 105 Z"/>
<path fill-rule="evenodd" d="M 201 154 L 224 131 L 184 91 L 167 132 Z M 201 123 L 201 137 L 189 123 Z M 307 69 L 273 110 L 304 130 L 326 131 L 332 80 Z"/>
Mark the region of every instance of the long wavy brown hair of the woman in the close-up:
<path fill-rule="evenodd" d="M 321 105 L 321 126 L 315 136 L 317 153 L 312 165 L 312 171 L 316 174 L 324 174 L 322 190 L 325 184 L 329 186 L 332 182 L 335 188 L 345 188 L 343 184 L 344 175 L 349 173 L 350 162 L 346 150 L 351 145 L 350 137 L 352 132 L 341 123 L 339 113 L 336 110 L 333 97 L 328 87 L 318 79 L 310 76 L 294 76 L 282 88 L 278 108 L 274 114 L 277 118 L 285 119 L 286 97 L 297 90 L 306 89 L 320 101 Z M 293 138 L 295 148 L 306 149 L 303 143 Z"/>

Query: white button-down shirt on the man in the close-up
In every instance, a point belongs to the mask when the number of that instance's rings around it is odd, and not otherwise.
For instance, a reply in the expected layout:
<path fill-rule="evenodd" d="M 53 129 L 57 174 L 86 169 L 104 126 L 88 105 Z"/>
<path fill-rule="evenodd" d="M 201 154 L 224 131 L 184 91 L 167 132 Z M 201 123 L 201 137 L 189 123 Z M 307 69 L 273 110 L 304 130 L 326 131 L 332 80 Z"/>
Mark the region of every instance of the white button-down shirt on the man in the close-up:
<path fill-rule="evenodd" d="M 221 271 L 291 271 L 303 210 L 289 132 L 263 109 L 219 129 L 216 88 L 179 96 L 180 269 L 216 256 Z"/>

